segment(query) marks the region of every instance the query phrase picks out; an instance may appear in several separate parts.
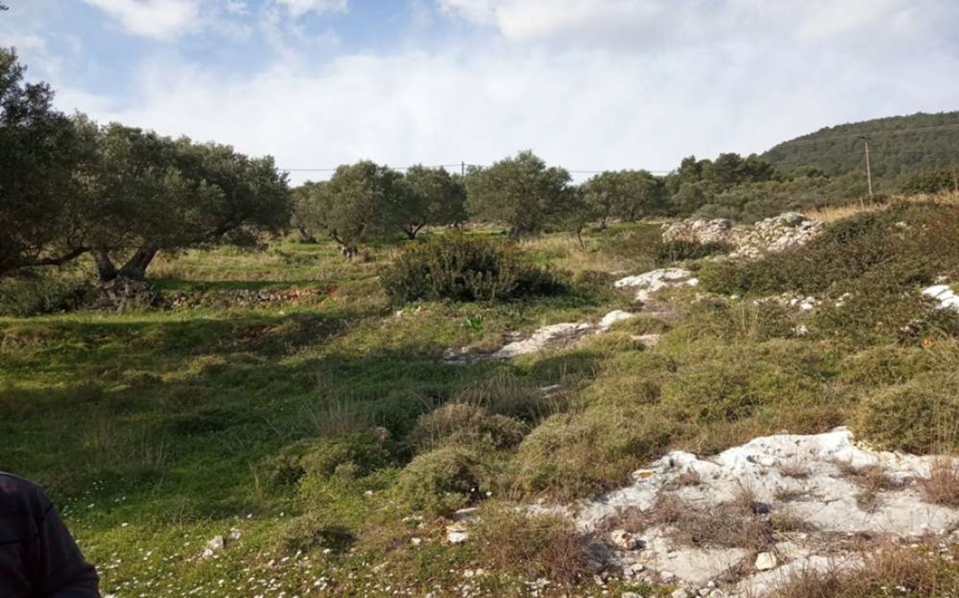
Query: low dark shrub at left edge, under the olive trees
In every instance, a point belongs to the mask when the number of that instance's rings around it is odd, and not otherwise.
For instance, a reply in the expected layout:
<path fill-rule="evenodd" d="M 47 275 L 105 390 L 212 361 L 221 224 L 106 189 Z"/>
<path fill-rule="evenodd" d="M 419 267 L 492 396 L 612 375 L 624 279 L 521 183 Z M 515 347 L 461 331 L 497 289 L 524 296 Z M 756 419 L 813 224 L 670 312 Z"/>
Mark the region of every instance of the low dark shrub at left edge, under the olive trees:
<path fill-rule="evenodd" d="M 93 304 L 93 285 L 72 276 L 36 276 L 0 280 L 0 315 L 24 317 L 76 311 Z"/>

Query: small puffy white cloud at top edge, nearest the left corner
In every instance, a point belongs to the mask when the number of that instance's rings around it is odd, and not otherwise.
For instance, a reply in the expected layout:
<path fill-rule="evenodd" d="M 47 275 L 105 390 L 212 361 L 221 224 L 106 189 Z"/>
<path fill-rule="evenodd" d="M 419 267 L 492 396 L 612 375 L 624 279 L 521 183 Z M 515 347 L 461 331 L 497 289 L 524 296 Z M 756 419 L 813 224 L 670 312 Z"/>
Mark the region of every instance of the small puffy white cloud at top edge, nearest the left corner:
<path fill-rule="evenodd" d="M 131 34 L 172 39 L 199 26 L 198 0 L 83 0 L 120 21 Z"/>

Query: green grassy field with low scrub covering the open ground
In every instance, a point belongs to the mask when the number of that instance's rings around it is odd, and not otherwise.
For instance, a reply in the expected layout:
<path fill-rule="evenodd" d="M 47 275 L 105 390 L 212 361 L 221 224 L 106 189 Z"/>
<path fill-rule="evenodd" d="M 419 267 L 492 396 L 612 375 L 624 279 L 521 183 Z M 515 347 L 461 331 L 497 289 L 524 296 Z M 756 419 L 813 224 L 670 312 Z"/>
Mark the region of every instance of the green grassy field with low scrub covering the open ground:
<path fill-rule="evenodd" d="M 959 275 L 956 243 L 933 226 L 951 221 L 954 237 L 956 207 L 910 205 L 851 215 L 839 244 L 809 249 L 809 272 L 691 264 L 703 290 L 665 293 L 609 334 L 469 365 L 443 350 L 635 310 L 609 273 L 662 265 L 659 226 L 523 242 L 568 271 L 567 289 L 493 304 L 390 305 L 378 274 L 393 246 L 369 263 L 332 243 L 166 257 L 156 287 L 195 307 L 0 318 L 0 470 L 47 488 L 117 596 L 618 595 L 620 582 L 594 584 L 562 521 L 503 506 L 587 498 L 667 449 L 782 429 L 942 440 L 925 411 L 877 418 L 897 397 L 959 413 L 959 326 L 918 293 Z M 919 232 L 897 237 L 899 221 Z M 888 252 L 853 268 L 855 235 Z M 847 311 L 754 301 L 807 293 L 813 278 L 826 303 L 850 293 Z M 237 289 L 311 292 L 244 303 Z M 649 332 L 664 336 L 645 349 L 633 336 Z M 450 545 L 444 517 L 467 504 L 488 522 Z M 239 539 L 200 558 L 231 529 Z"/>

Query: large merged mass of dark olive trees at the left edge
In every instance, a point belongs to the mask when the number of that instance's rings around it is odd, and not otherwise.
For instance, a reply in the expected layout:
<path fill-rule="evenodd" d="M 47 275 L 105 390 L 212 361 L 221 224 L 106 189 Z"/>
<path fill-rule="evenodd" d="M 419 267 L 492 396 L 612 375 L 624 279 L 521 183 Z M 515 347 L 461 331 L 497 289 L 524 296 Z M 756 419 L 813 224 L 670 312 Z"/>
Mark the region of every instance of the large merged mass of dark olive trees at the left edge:
<path fill-rule="evenodd" d="M 142 278 L 158 251 L 287 226 L 287 177 L 271 157 L 71 119 L 24 70 L 0 50 L 0 274 L 91 253 L 101 280 Z"/>

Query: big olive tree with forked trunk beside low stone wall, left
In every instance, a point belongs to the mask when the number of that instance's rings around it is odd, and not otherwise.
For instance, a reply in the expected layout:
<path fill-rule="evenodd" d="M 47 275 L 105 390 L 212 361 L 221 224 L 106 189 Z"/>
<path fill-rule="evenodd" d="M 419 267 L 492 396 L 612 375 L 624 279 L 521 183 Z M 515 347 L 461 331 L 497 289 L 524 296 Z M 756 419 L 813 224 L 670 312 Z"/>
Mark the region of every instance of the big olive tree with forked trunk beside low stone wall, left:
<path fill-rule="evenodd" d="M 269 156 L 118 124 L 82 127 L 97 129 L 80 178 L 93 208 L 86 244 L 103 282 L 144 278 L 160 251 L 249 244 L 290 219 L 286 174 Z"/>

